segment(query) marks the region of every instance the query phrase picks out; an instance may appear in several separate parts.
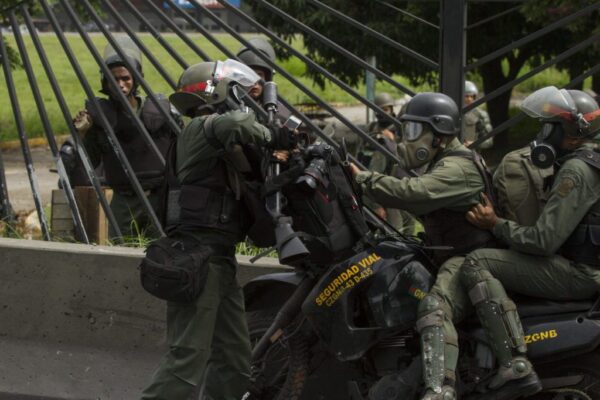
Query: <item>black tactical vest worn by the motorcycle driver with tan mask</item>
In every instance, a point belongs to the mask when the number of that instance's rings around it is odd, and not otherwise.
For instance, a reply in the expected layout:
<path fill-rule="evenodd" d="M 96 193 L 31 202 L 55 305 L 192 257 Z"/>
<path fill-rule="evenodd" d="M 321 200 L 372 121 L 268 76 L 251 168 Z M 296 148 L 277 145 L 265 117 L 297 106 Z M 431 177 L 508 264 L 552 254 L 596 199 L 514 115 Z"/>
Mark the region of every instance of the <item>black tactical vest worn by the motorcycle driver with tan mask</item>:
<path fill-rule="evenodd" d="M 477 166 L 477 170 L 483 179 L 485 193 L 488 198 L 494 199 L 490 173 L 483 163 L 481 156 L 475 151 L 456 151 L 448 156 L 459 156 L 467 158 Z M 423 217 L 423 226 L 429 246 L 450 246 L 451 250 L 435 250 L 433 259 L 441 265 L 448 258 L 465 255 L 482 247 L 498 247 L 492 233 L 488 230 L 479 229 L 465 218 L 464 212 L 440 209 L 433 211 Z"/>

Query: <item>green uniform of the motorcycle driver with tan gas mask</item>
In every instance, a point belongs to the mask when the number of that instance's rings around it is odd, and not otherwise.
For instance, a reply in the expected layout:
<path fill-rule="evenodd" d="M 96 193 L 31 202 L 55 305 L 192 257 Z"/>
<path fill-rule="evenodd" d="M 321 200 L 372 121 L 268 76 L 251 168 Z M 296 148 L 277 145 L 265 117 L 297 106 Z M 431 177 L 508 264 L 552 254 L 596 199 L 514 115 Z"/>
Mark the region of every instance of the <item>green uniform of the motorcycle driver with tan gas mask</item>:
<path fill-rule="evenodd" d="M 458 139 L 452 140 L 420 177 L 397 179 L 362 172 L 357 175 L 356 181 L 367 195 L 385 207 L 398 207 L 417 216 L 440 209 L 466 213 L 479 202 L 485 185 L 473 161 L 447 156 L 454 151 L 468 150 Z M 419 306 L 419 317 L 426 315 L 426 310 L 431 308 L 444 311 L 441 321 L 445 341 L 444 368 L 446 376 L 450 377 L 454 377 L 458 359 L 458 335 L 452 321 L 460 321 L 470 311 L 469 299 L 458 274 L 463 260 L 464 257 L 452 257 L 441 266 L 434 286 Z M 429 305 L 431 307 L 426 307 Z"/>

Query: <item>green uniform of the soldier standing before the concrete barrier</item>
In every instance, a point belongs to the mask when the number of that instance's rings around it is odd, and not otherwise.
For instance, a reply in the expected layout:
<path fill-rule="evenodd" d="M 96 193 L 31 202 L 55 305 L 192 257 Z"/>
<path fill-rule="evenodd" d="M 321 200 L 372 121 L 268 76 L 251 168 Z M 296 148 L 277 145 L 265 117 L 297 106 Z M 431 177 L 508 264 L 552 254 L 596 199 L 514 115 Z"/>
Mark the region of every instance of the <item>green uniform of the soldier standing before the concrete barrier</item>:
<path fill-rule="evenodd" d="M 205 119 L 194 118 L 178 139 L 177 177 L 183 185 L 206 175 L 223 159 L 207 142 Z M 271 140 L 253 113 L 227 112 L 214 118 L 213 128 L 226 151 L 237 144 L 263 146 Z M 239 200 L 237 207 L 242 207 Z M 234 255 L 245 232 L 197 228 L 191 234 L 202 243 L 229 250 L 209 259 L 208 280 L 195 303 L 167 304 L 169 350 L 142 399 L 186 400 L 204 380 L 205 398 L 239 400 L 248 383 L 251 352 Z"/>

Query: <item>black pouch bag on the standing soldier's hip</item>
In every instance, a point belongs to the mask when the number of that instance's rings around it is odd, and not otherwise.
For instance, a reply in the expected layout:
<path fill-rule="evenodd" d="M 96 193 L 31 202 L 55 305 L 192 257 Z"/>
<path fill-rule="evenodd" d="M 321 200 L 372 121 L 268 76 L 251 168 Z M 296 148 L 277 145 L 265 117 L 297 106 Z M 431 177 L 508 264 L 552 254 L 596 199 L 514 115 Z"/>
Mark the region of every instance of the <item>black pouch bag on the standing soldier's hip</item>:
<path fill-rule="evenodd" d="M 212 254 L 213 247 L 192 238 L 157 239 L 140 263 L 142 287 L 159 299 L 191 303 L 204 289 Z"/>

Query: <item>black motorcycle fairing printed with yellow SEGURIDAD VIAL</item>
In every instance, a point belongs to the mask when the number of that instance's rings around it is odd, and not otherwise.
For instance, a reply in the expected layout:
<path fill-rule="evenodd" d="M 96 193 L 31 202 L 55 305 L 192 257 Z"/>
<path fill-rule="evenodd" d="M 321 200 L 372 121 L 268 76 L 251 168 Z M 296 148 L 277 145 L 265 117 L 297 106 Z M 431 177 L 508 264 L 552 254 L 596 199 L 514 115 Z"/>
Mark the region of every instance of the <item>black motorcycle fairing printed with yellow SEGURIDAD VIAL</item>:
<path fill-rule="evenodd" d="M 382 242 L 332 266 L 302 311 L 341 361 L 360 358 L 380 338 L 410 329 L 433 277 L 416 248 Z"/>

